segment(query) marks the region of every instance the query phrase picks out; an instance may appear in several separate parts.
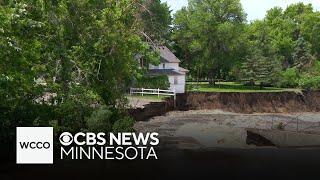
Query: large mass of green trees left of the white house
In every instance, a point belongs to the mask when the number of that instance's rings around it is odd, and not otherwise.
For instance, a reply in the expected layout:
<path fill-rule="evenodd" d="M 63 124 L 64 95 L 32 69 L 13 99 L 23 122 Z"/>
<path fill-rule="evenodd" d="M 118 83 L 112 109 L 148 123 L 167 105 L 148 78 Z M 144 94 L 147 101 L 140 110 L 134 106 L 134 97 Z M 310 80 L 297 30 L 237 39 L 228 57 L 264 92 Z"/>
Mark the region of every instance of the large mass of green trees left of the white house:
<path fill-rule="evenodd" d="M 12 139 L 15 126 L 85 129 L 97 105 L 110 107 L 114 121 L 126 117 L 118 111 L 140 73 L 133 57 L 155 56 L 141 35 L 141 3 L 1 2 L 1 140 Z"/>

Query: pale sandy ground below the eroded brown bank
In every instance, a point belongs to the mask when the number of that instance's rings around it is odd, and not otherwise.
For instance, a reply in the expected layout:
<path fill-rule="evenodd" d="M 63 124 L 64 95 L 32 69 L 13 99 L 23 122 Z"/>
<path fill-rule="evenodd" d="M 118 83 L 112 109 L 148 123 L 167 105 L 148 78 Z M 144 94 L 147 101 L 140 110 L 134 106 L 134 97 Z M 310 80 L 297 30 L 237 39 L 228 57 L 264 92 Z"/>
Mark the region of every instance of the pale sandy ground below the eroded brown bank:
<path fill-rule="evenodd" d="M 220 110 L 174 111 L 137 122 L 138 132 L 158 132 L 181 148 L 255 148 L 246 144 L 246 128 L 320 134 L 320 113 L 239 114 Z"/>

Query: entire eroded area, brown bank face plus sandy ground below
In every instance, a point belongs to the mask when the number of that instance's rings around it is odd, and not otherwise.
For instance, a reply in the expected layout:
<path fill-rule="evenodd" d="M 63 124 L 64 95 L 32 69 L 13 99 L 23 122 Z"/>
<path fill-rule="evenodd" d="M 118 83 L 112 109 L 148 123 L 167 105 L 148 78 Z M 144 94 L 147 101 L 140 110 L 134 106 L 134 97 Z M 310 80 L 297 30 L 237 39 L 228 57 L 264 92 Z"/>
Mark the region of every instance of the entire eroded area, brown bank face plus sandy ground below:
<path fill-rule="evenodd" d="M 130 113 L 135 120 L 143 121 L 137 122 L 135 129 L 158 132 L 163 147 L 196 149 L 273 145 L 257 136 L 253 137 L 257 142 L 248 143 L 248 128 L 320 134 L 319 111 L 320 91 L 305 91 L 186 93 L 177 96 L 175 106 L 171 98 Z"/>

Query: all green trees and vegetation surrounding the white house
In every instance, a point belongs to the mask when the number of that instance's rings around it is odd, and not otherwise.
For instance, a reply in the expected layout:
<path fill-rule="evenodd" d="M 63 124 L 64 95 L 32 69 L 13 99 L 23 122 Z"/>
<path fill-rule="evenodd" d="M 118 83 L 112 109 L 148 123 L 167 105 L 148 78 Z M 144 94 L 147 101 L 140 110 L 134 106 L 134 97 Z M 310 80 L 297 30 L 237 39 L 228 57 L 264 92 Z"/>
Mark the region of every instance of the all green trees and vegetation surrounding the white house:
<path fill-rule="evenodd" d="M 158 45 L 209 81 L 191 90 L 318 89 L 319 19 L 303 3 L 247 22 L 240 0 L 189 0 L 173 19 L 160 0 L 0 1 L 0 140 L 17 126 L 132 131 L 130 86 L 168 87 L 146 77 Z"/>

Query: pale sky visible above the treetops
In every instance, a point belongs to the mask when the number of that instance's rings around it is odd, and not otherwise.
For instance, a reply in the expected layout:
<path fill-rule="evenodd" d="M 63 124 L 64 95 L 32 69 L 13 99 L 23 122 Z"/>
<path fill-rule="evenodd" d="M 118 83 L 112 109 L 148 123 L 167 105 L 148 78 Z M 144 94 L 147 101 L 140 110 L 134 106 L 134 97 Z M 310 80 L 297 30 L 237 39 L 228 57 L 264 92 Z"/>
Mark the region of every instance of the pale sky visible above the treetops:
<path fill-rule="evenodd" d="M 188 5 L 188 0 L 161 0 L 167 2 L 173 13 Z M 311 3 L 316 10 L 320 10 L 320 0 L 241 0 L 242 7 L 248 14 L 248 21 L 263 19 L 267 10 L 279 6 L 285 9 L 288 5 L 303 2 Z"/>

